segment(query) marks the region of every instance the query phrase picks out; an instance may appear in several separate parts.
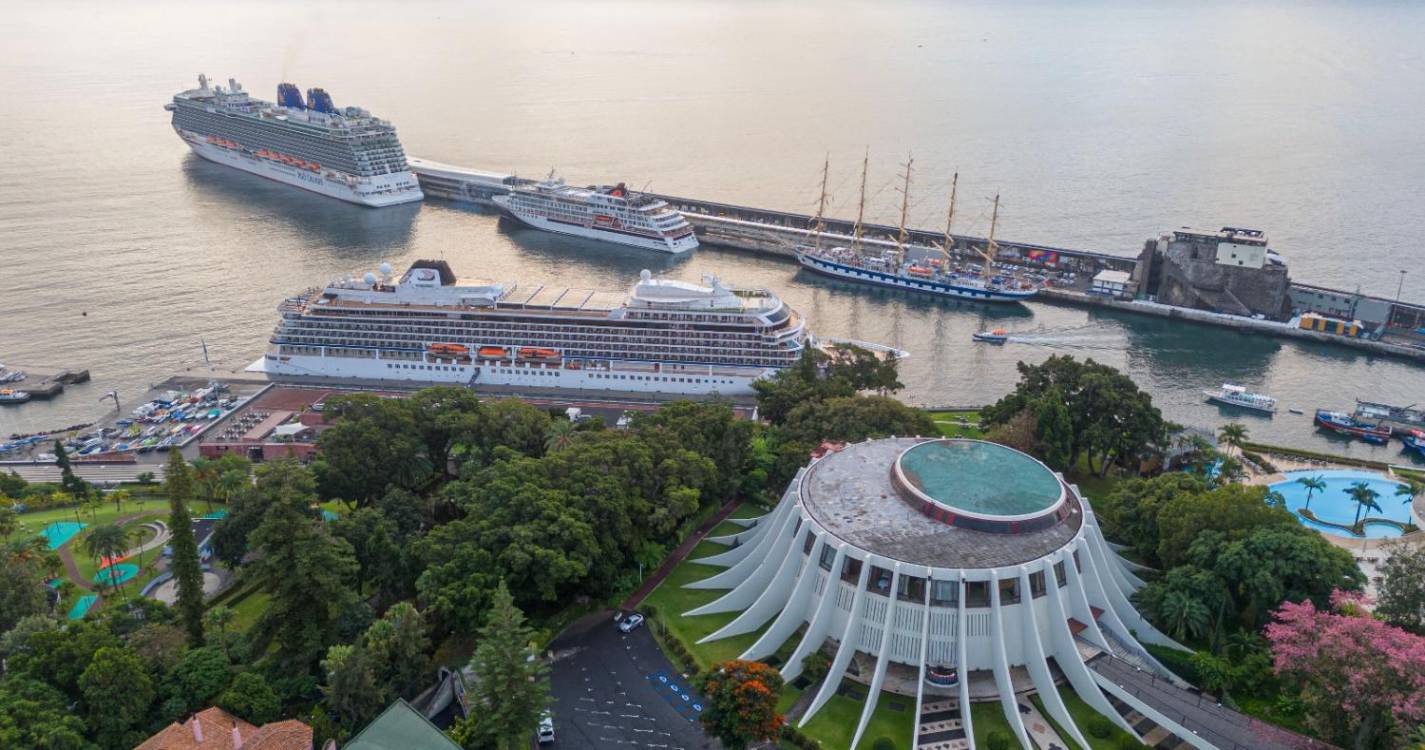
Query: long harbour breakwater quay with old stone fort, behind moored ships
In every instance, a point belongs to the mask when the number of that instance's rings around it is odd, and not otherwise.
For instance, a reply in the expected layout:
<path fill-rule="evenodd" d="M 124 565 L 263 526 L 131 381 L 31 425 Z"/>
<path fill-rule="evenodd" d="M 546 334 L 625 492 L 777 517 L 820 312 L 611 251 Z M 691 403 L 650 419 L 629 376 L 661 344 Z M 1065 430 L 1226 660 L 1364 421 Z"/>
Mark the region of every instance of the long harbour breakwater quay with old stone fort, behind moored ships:
<path fill-rule="evenodd" d="M 496 171 L 412 158 L 412 171 L 428 197 L 493 207 L 533 180 Z M 812 238 L 809 214 L 654 195 L 680 211 L 704 245 L 794 260 Z M 821 242 L 851 245 L 855 222 L 822 217 Z M 895 248 L 898 227 L 862 224 L 861 245 Z M 953 260 L 978 261 L 983 237 L 952 234 L 945 250 Z M 939 254 L 946 234 L 906 228 L 911 257 Z M 1043 282 L 1035 301 L 1230 328 L 1374 355 L 1425 361 L 1425 304 L 1359 289 L 1292 281 L 1287 260 L 1258 230 L 1178 228 L 1144 241 L 1137 255 L 996 238 L 995 262 Z"/>

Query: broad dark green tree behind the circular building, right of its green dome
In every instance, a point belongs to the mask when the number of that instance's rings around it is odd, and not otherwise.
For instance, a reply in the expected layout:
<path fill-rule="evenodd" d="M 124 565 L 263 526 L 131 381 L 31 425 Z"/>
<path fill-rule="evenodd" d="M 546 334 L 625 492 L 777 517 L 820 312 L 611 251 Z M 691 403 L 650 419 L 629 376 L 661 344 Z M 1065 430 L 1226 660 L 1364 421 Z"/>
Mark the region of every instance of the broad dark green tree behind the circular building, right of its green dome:
<path fill-rule="evenodd" d="M 982 409 L 980 422 L 1007 425 L 1022 413 L 1035 421 L 1042 443 L 1036 455 L 1052 455 L 1062 463 L 1056 468 L 1087 458 L 1100 473 L 1116 462 L 1136 468 L 1144 453 L 1167 443 L 1170 432 L 1153 399 L 1131 378 L 1067 355 L 1039 365 L 1020 362 L 1015 391 Z"/>

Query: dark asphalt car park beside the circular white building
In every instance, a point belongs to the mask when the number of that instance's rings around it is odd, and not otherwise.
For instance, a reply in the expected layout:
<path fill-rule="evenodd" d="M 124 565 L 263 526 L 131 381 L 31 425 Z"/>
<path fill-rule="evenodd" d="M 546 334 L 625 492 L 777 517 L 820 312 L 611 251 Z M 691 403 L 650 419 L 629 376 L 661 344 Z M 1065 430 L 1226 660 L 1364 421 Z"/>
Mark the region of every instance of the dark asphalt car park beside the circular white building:
<path fill-rule="evenodd" d="M 591 615 L 560 635 L 550 649 L 556 741 L 544 747 L 721 747 L 703 733 L 695 719 L 701 699 L 664 659 L 647 626 L 624 635 L 611 612 Z"/>

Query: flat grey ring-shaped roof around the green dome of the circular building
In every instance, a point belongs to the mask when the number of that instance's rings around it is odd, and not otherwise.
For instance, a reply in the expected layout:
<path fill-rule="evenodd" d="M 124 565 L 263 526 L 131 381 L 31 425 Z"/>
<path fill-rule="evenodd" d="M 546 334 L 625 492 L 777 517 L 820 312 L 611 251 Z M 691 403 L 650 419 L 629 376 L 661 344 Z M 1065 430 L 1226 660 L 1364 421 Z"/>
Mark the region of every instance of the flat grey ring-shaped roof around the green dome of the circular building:
<path fill-rule="evenodd" d="M 931 439 L 935 438 L 888 438 L 826 453 L 802 476 L 802 508 L 829 533 L 858 549 L 943 569 L 1006 567 L 1037 560 L 1079 533 L 1083 510 L 1067 488 L 1069 516 L 1039 530 L 980 532 L 919 513 L 901 498 L 891 469 L 902 452 Z"/>

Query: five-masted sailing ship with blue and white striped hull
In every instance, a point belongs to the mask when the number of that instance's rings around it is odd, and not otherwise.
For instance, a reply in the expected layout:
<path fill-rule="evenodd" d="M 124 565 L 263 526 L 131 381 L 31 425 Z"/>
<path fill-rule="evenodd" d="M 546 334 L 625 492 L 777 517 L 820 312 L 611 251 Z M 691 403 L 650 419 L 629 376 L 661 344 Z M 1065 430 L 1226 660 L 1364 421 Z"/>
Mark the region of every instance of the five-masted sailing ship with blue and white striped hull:
<path fill-rule="evenodd" d="M 861 208 L 856 211 L 856 224 L 852 230 L 851 247 L 822 247 L 822 221 L 826 208 L 826 177 L 829 160 L 821 171 L 821 201 L 817 205 L 817 217 L 812 224 L 812 244 L 797 248 L 797 262 L 809 271 L 829 277 L 844 278 L 859 284 L 875 284 L 879 287 L 893 287 L 913 292 L 931 294 L 936 297 L 950 297 L 958 299 L 976 299 L 980 302 L 1019 302 L 1037 294 L 1037 288 L 1013 275 L 999 274 L 995 269 L 995 228 L 999 224 L 999 195 L 995 195 L 995 212 L 990 217 L 989 240 L 985 250 L 973 248 L 983 260 L 982 268 L 958 268 L 950 257 L 955 238 L 950 228 L 955 221 L 955 190 L 959 184 L 959 174 L 950 183 L 950 207 L 945 221 L 945 244 L 940 247 L 911 247 L 906 244 L 906 211 L 911 201 L 911 167 L 915 160 L 905 164 L 905 185 L 901 188 L 901 228 L 895 237 L 895 247 L 886 250 L 871 250 L 862 241 L 862 220 L 866 208 L 866 167 L 869 155 L 861 164 Z M 921 257 L 912 257 L 912 250 L 919 250 Z"/>

